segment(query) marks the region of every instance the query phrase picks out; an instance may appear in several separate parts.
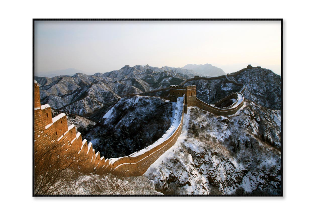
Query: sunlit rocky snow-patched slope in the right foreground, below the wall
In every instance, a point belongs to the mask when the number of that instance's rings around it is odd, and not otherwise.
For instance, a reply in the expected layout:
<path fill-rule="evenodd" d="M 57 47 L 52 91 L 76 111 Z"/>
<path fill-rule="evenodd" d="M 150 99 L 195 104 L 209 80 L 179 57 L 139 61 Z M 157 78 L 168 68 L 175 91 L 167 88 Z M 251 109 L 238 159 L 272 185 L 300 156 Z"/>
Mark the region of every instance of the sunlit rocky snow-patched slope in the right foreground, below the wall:
<path fill-rule="evenodd" d="M 229 117 L 189 107 L 180 138 L 144 175 L 164 194 L 280 194 L 281 152 L 260 135 L 279 147 L 280 121 L 253 102 Z"/>

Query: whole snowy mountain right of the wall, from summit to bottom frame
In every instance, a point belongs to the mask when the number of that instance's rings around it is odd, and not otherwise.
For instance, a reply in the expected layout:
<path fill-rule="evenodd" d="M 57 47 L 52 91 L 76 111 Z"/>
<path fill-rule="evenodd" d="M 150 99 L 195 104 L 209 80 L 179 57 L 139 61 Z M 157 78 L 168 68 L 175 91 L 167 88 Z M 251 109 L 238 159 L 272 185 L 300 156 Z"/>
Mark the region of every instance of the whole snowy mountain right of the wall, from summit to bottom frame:
<path fill-rule="evenodd" d="M 245 83 L 244 106 L 226 117 L 188 108 L 180 138 L 145 173 L 163 194 L 281 194 L 281 78 L 261 68 L 229 78 Z M 208 103 L 241 88 L 225 78 L 187 84 Z"/>

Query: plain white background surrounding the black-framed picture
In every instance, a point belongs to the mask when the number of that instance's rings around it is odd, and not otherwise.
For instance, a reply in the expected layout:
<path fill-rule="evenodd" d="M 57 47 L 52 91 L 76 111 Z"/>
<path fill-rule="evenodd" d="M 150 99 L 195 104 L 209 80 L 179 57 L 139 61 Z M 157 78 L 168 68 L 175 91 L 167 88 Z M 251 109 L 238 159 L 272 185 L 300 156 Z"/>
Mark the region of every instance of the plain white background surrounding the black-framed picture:
<path fill-rule="evenodd" d="M 138 2 L 138 4 L 136 4 Z M 1 6 L 2 209 L 12 213 L 310 212 L 314 192 L 313 7 L 309 1 L 4 1 Z M 32 18 L 283 18 L 284 197 L 79 197 L 32 195 Z M 3 67 L 4 65 L 4 67 Z M 11 90 L 11 91 L 9 91 Z M 302 92 L 300 92 L 302 90 Z M 18 113 L 17 115 L 14 115 Z M 12 120 L 12 118 L 14 118 Z M 17 133 L 16 127 L 23 127 Z M 17 137 L 25 137 L 17 139 Z M 17 158 L 11 161 L 11 158 Z M 3 164 L 4 163 L 4 164 Z M 16 168 L 18 167 L 18 168 Z"/>

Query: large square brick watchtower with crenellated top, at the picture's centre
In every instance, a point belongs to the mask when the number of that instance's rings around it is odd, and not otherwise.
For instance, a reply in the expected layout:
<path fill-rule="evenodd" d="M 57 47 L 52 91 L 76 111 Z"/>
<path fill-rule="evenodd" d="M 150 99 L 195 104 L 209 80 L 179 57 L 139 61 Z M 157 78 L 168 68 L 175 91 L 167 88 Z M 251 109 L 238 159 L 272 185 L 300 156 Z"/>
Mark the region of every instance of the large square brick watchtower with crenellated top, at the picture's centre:
<path fill-rule="evenodd" d="M 171 85 L 169 88 L 170 102 L 176 102 L 177 98 L 185 95 L 185 105 L 196 106 L 196 85 Z"/>

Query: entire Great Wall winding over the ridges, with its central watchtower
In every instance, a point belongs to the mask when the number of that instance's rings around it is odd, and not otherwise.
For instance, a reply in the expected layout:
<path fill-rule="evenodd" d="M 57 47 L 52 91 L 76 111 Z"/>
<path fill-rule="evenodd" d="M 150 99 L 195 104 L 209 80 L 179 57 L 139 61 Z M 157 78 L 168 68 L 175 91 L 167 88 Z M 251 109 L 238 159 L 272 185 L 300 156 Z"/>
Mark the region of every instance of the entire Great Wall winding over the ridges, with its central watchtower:
<path fill-rule="evenodd" d="M 242 69 L 236 73 L 243 72 L 249 67 Z M 252 67 L 251 67 L 252 68 Z M 243 106 L 243 92 L 245 85 L 229 80 L 228 76 L 237 74 L 227 74 L 220 77 L 199 77 L 195 76 L 192 79 L 185 80 L 180 85 L 172 85 L 170 87 L 159 89 L 150 92 L 169 90 L 169 99 L 171 102 L 177 102 L 175 117 L 171 127 L 163 136 L 152 145 L 137 151 L 129 156 L 105 159 L 100 157 L 99 152 L 95 152 L 92 143 L 87 140 L 82 140 L 81 134 L 76 133 L 74 125 L 68 126 L 66 114 L 61 113 L 52 118 L 51 108 L 48 104 L 41 105 L 39 85 L 34 83 L 34 160 L 35 174 L 37 169 L 44 165 L 47 161 L 43 157 L 47 151 L 59 146 L 60 154 L 55 154 L 54 157 L 60 161 L 68 160 L 65 164 L 69 164 L 71 160 L 72 168 L 80 170 L 82 173 L 112 173 L 122 176 L 140 176 L 154 163 L 165 151 L 171 148 L 177 138 L 180 136 L 184 113 L 187 112 L 187 107 L 197 106 L 201 109 L 209 111 L 217 115 L 231 115 L 238 111 Z M 239 92 L 233 92 L 224 97 L 215 105 L 219 105 L 226 100 L 235 99 L 228 107 L 215 107 L 209 105 L 196 97 L 195 85 L 183 85 L 192 80 L 214 80 L 226 78 L 226 80 L 235 85 L 243 86 Z M 141 94 L 140 94 L 141 95 Z M 75 156 L 75 157 L 74 157 Z"/>

